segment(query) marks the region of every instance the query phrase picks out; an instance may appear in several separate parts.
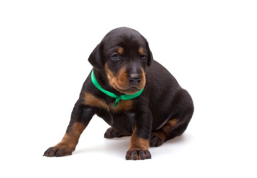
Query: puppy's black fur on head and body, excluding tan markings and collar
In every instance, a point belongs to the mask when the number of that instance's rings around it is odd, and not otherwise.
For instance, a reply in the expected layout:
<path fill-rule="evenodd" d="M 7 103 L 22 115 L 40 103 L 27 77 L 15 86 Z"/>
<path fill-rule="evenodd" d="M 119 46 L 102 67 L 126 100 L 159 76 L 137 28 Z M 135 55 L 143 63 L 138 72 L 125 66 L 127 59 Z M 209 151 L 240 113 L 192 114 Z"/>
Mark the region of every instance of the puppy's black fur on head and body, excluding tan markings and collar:
<path fill-rule="evenodd" d="M 124 49 L 119 61 L 110 57 L 112 52 L 117 50 L 117 46 Z M 139 47 L 146 50 L 144 51 L 147 55 L 146 60 L 141 60 L 141 56 L 137 52 Z M 114 98 L 108 97 L 93 85 L 90 73 L 83 83 L 80 97 L 73 108 L 67 133 L 74 122 L 88 125 L 94 114 L 102 117 L 120 135 L 122 135 L 121 133 L 131 135 L 136 126 L 137 136 L 149 139 L 152 131 L 157 130 L 172 118 L 178 119 L 178 125 L 169 133 L 167 139 L 179 136 L 186 130 L 194 110 L 192 99 L 172 74 L 153 60 L 147 40 L 137 31 L 127 27 L 113 29 L 93 50 L 89 56 L 89 62 L 93 65 L 96 79 L 100 85 L 116 95 L 124 93 L 120 93 L 109 84 L 104 70 L 106 63 L 113 73 L 119 72 L 124 66 L 128 73 L 144 69 L 146 71 L 144 92 L 133 99 L 133 107 L 128 111 L 113 112 L 84 105 L 83 92 L 91 93 L 104 100 L 108 105 L 115 101 Z"/>

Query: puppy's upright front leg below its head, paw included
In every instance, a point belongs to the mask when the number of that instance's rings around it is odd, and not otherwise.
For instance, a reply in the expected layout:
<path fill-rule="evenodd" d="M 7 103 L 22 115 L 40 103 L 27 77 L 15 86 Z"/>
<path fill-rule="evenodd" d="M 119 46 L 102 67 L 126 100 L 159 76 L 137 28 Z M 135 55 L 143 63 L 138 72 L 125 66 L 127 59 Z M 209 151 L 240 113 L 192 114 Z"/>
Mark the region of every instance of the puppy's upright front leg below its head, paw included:
<path fill-rule="evenodd" d="M 133 134 L 130 138 L 129 150 L 126 153 L 127 160 L 151 159 L 149 150 L 149 137 L 152 126 L 152 113 L 143 112 L 136 117 Z"/>

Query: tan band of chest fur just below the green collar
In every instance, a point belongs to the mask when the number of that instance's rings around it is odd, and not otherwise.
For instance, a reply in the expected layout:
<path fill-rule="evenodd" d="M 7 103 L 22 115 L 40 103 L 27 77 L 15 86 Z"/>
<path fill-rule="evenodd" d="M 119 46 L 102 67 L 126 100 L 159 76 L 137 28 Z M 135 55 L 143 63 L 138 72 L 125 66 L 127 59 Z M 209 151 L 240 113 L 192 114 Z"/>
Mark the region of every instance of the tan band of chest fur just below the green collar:
<path fill-rule="evenodd" d="M 113 98 L 113 102 L 107 103 L 102 98 L 98 98 L 89 92 L 84 92 L 83 104 L 85 104 L 87 106 L 96 107 L 99 109 L 104 109 L 110 113 L 115 113 L 118 111 L 131 110 L 133 107 L 133 100 L 120 100 L 119 104 L 116 107 L 114 107 L 114 104 L 115 104 L 114 98 Z"/>

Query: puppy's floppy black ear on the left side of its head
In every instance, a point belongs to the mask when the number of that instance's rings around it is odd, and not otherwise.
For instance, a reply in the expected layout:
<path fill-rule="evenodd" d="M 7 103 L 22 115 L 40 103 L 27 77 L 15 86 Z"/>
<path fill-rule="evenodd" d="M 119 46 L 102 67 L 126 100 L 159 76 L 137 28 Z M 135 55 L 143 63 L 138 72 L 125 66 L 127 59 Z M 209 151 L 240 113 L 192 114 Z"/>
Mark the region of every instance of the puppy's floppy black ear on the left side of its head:
<path fill-rule="evenodd" d="M 96 48 L 92 51 L 92 53 L 89 56 L 89 62 L 90 64 L 98 69 L 101 70 L 103 69 L 103 62 L 102 62 L 102 55 L 101 55 L 101 49 L 100 49 L 100 44 L 96 46 Z"/>

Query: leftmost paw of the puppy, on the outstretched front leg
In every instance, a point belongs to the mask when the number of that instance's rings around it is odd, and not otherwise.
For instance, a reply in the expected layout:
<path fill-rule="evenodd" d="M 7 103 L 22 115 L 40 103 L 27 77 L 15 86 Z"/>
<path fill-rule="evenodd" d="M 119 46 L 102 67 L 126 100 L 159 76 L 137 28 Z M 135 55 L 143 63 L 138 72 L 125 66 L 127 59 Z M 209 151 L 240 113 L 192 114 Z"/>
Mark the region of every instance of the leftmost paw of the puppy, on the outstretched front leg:
<path fill-rule="evenodd" d="M 49 147 L 44 153 L 43 156 L 46 157 L 61 157 L 61 156 L 67 156 L 71 155 L 73 152 L 72 149 L 70 149 L 68 146 L 53 146 Z"/>

